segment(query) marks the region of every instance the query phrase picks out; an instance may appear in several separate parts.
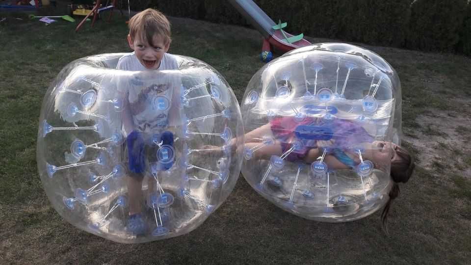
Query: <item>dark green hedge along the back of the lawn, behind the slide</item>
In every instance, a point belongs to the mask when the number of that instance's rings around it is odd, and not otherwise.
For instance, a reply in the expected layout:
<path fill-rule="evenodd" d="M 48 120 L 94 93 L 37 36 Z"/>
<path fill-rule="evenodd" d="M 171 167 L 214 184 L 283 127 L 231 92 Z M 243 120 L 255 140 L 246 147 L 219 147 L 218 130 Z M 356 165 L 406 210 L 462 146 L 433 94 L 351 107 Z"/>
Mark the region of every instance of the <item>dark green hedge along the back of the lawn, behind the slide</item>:
<path fill-rule="evenodd" d="M 255 0 L 292 34 L 424 51 L 471 53 L 468 0 Z M 151 0 L 170 16 L 247 26 L 228 1 Z M 468 9 L 466 9 L 468 7 Z M 465 19 L 465 10 L 466 19 Z M 461 40 L 460 40 L 461 38 Z"/>

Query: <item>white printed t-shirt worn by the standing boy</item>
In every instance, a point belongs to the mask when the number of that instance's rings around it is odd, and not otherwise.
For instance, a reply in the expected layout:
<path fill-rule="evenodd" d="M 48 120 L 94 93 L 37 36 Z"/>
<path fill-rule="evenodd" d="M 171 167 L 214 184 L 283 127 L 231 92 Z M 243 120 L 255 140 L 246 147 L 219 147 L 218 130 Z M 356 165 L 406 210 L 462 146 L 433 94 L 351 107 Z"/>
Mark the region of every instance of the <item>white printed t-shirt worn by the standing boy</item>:
<path fill-rule="evenodd" d="M 164 71 L 178 69 L 177 59 L 172 54 L 164 54 L 158 71 L 145 68 L 134 53 L 122 56 L 116 69 L 139 71 L 118 84 L 118 91 L 126 95 L 129 102 L 133 130 L 157 133 L 181 122 L 181 78 L 178 73 Z"/>

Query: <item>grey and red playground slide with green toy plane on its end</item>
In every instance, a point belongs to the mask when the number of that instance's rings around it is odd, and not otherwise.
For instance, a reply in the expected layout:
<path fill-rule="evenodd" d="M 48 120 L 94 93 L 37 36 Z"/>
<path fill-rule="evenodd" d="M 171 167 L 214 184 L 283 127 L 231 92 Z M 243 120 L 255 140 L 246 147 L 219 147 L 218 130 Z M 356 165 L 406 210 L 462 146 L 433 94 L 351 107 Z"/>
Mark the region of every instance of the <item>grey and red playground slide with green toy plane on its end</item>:
<path fill-rule="evenodd" d="M 252 26 L 262 33 L 264 37 L 262 56 L 265 56 L 264 53 L 270 52 L 270 45 L 285 53 L 299 47 L 311 45 L 309 41 L 303 38 L 302 33 L 293 36 L 285 32 L 283 28 L 287 26 L 287 23 L 281 23 L 280 21 L 276 24 L 254 1 L 230 0 L 230 2 Z M 269 61 L 265 58 L 262 58 L 262 60 Z"/>

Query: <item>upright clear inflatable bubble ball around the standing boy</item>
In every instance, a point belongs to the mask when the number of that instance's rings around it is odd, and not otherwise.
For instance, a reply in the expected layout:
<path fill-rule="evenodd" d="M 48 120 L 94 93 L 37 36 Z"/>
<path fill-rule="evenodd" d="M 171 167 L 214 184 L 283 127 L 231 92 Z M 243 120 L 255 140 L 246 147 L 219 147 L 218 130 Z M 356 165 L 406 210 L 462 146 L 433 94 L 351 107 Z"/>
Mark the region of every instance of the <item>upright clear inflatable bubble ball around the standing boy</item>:
<path fill-rule="evenodd" d="M 239 106 L 200 60 L 176 55 L 177 70 L 115 70 L 123 55 L 78 59 L 52 82 L 39 121 L 41 181 L 55 210 L 82 230 L 124 243 L 176 237 L 235 186 Z"/>

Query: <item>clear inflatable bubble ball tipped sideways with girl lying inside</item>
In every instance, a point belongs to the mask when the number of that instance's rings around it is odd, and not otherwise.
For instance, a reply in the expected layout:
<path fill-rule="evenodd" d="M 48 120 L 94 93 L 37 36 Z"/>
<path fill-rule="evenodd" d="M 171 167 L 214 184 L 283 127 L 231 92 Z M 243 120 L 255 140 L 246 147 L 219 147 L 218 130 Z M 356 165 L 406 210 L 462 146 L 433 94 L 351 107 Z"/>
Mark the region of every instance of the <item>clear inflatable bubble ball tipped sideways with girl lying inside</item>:
<path fill-rule="evenodd" d="M 386 203 L 401 90 L 379 55 L 342 43 L 293 50 L 250 80 L 242 173 L 278 207 L 345 222 Z"/>

